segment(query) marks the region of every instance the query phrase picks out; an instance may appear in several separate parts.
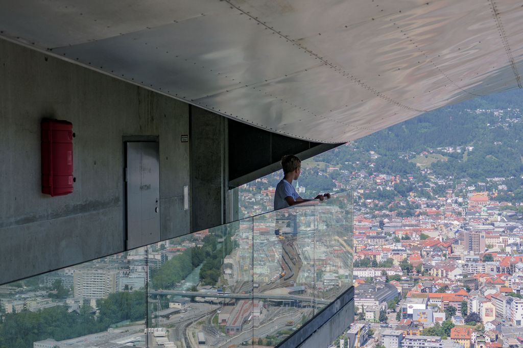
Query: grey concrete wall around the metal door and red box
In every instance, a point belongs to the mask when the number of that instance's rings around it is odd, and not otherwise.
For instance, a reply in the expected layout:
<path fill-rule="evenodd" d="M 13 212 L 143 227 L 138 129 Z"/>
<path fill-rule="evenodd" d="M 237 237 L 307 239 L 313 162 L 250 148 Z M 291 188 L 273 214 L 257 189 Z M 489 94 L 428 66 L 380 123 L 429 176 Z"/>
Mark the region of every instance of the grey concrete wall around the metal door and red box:
<path fill-rule="evenodd" d="M 41 193 L 40 120 L 73 123 L 74 193 Z M 161 238 L 190 230 L 189 106 L 0 40 L 0 283 L 123 250 L 125 135 L 160 141 Z"/>

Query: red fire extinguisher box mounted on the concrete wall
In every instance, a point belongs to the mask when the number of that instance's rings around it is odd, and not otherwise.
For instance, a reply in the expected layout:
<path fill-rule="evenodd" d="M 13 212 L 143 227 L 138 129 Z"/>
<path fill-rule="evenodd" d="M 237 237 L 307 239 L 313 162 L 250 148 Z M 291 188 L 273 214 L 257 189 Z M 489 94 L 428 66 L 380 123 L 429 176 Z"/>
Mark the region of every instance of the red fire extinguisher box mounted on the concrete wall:
<path fill-rule="evenodd" d="M 42 193 L 62 196 L 73 192 L 73 124 L 42 120 Z"/>

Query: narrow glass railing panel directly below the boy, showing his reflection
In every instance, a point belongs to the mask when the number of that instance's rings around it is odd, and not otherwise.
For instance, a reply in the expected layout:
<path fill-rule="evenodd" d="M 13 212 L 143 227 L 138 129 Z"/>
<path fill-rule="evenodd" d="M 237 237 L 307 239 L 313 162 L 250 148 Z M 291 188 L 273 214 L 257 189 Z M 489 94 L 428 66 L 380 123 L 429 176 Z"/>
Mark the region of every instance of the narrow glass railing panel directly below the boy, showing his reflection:
<path fill-rule="evenodd" d="M 254 217 L 255 345 L 275 346 L 313 316 L 314 205 Z"/>

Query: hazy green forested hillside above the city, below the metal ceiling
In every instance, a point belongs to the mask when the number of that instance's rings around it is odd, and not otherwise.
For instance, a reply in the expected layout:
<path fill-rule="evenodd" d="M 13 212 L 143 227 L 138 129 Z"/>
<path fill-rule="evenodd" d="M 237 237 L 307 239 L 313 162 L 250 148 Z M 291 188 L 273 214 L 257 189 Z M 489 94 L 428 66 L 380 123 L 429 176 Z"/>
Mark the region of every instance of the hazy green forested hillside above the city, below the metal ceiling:
<path fill-rule="evenodd" d="M 316 156 L 315 161 L 347 166 L 367 158 L 370 151 L 380 157 L 374 170 L 390 175 L 414 174 L 408 159 L 422 152 L 440 153 L 445 161 L 430 165 L 436 177 L 485 180 L 515 177 L 523 172 L 523 93 L 520 90 L 468 100 L 402 122 L 383 131 Z M 465 146 L 473 147 L 467 150 Z M 445 147 L 461 147 L 446 152 Z"/>

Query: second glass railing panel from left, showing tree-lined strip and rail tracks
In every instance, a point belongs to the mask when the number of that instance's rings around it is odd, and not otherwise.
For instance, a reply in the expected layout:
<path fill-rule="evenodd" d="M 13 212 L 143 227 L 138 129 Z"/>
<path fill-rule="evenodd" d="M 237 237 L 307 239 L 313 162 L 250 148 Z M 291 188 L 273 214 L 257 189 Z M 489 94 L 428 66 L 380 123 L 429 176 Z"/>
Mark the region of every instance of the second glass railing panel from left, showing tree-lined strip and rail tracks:
<path fill-rule="evenodd" d="M 251 340 L 252 236 L 247 218 L 149 246 L 153 346 Z"/>

